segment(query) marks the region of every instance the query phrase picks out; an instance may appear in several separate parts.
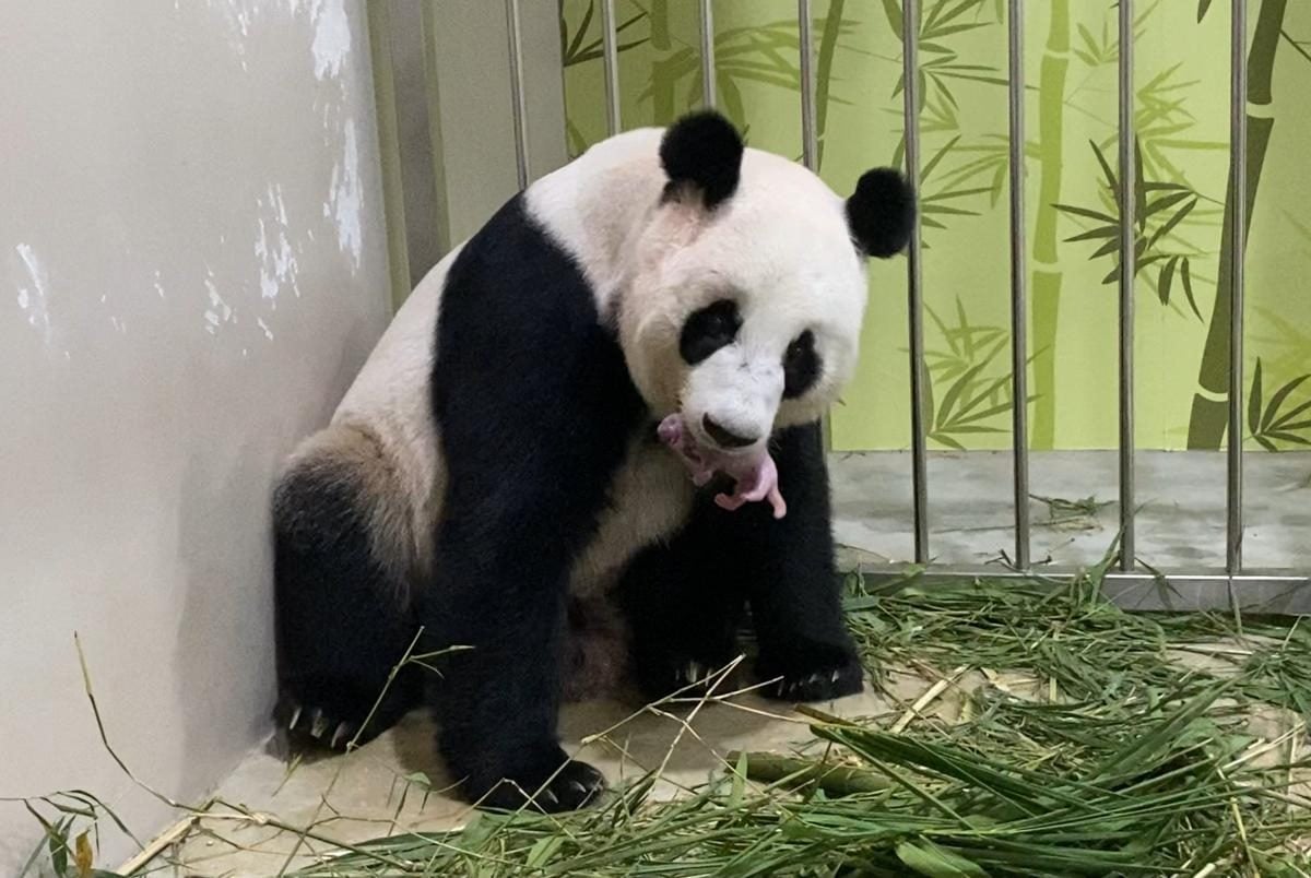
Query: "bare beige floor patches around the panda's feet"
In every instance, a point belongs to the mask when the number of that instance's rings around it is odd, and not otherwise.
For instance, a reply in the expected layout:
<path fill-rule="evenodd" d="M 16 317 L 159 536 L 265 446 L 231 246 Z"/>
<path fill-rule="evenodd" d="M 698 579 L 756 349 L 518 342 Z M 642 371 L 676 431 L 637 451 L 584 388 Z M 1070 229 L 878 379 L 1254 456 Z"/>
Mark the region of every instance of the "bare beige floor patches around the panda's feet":
<path fill-rule="evenodd" d="M 906 702 L 920 685 L 906 678 Z M 591 702 L 565 709 L 561 738 L 566 752 L 600 769 L 611 782 L 659 769 L 663 778 L 652 795 L 676 795 L 704 784 L 734 750 L 796 750 L 810 743 L 805 721 L 787 705 L 751 693 L 726 693 L 690 714 L 654 708 L 635 714 L 631 705 Z M 847 717 L 888 717 L 901 708 L 884 695 L 863 695 L 818 705 Z M 286 827 L 315 827 L 347 844 L 382 835 L 439 831 L 463 826 L 471 809 L 443 795 L 450 784 L 433 747 L 434 730 L 422 713 L 412 714 L 359 751 L 300 764 L 288 774 L 279 746 L 270 742 L 252 754 L 220 786 L 219 797 L 256 816 L 223 805 L 194 822 L 164 852 L 172 866 L 153 874 L 203 878 L 254 878 L 312 862 L 330 847 L 302 840 Z M 422 776 L 422 778 L 420 778 Z M 425 793 L 430 795 L 425 797 Z M 177 869 L 169 873 L 168 869 Z"/>

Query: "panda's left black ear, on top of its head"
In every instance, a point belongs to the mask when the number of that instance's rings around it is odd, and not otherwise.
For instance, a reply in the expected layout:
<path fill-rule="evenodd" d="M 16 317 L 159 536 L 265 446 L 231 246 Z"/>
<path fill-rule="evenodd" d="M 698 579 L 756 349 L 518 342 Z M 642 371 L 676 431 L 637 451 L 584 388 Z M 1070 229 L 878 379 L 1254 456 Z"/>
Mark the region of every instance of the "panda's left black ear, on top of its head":
<path fill-rule="evenodd" d="M 742 136 L 713 110 L 690 113 L 665 132 L 659 160 L 675 187 L 701 193 L 707 210 L 737 191 L 742 173 Z"/>

